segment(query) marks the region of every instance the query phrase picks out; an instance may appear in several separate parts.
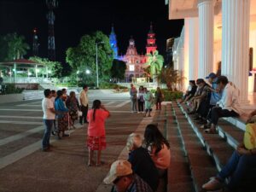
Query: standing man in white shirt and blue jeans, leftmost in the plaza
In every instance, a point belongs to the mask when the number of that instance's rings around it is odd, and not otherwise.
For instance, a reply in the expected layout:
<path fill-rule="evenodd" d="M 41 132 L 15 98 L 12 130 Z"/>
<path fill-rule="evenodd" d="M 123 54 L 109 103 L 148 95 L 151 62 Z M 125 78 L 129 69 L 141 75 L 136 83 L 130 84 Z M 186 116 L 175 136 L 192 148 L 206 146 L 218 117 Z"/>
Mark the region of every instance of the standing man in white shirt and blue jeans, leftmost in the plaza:
<path fill-rule="evenodd" d="M 52 94 L 51 91 L 49 89 L 44 90 L 44 99 L 42 101 L 42 108 L 43 108 L 43 112 L 44 112 L 44 125 L 45 125 L 45 129 L 44 129 L 44 137 L 43 137 L 43 141 L 42 141 L 42 150 L 47 152 L 49 151 L 49 137 L 50 137 L 50 132 L 52 129 L 52 125 L 54 124 L 54 120 L 55 120 L 55 108 L 54 108 L 54 104 L 51 101 Z"/>

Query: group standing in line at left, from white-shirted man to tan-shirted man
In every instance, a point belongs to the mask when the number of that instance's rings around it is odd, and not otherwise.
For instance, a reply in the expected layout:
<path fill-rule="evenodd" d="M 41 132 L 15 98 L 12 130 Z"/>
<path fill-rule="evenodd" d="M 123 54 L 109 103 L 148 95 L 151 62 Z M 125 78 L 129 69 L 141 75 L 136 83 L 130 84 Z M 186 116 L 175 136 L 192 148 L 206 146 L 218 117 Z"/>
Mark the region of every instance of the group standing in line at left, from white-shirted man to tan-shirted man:
<path fill-rule="evenodd" d="M 81 125 L 83 124 L 83 120 L 84 123 L 88 123 L 87 91 L 88 87 L 84 85 L 78 101 L 74 91 L 70 91 L 69 96 L 67 96 L 67 89 L 57 91 L 44 90 L 44 99 L 42 101 L 45 125 L 42 142 L 43 151 L 49 151 L 49 148 L 52 147 L 49 143 L 50 134 L 56 136 L 58 139 L 69 137 L 65 131 L 76 128 L 74 125 L 76 119 L 79 119 Z"/>

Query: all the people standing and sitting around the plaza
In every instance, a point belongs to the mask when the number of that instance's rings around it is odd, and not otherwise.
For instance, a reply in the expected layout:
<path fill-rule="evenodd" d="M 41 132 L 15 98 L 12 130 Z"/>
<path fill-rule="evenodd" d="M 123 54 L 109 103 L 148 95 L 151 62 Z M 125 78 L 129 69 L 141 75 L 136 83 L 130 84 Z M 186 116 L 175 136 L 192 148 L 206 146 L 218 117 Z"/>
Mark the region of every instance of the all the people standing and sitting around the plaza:
<path fill-rule="evenodd" d="M 189 81 L 189 89 L 181 102 L 188 105 L 188 112 L 207 134 L 215 134 L 218 131 L 218 119 L 221 117 L 238 117 L 241 115 L 239 103 L 239 90 L 236 85 L 225 76 L 217 76 L 210 73 L 204 79 Z M 67 96 L 67 90 L 44 90 L 42 107 L 44 111 L 45 132 L 43 138 L 43 150 L 50 148 L 49 136 L 51 127 L 54 126 L 54 134 L 58 138 L 67 137 L 65 133 L 68 124 L 74 128 L 74 121 L 88 123 L 87 147 L 89 150 L 88 166 L 101 166 L 102 150 L 106 148 L 105 121 L 110 117 L 110 112 L 95 100 L 88 111 L 88 87 L 84 85 L 76 99 L 73 91 Z M 131 84 L 131 109 L 132 112 L 144 113 L 145 116 L 156 105 L 161 109 L 163 93 L 158 87 L 154 96 L 151 91 L 143 86 L 139 90 Z M 80 104 L 79 104 L 80 103 Z M 256 110 L 250 113 L 247 123 L 251 122 Z M 55 123 L 56 121 L 56 123 Z M 253 121 L 255 123 L 255 120 Z M 104 179 L 105 183 L 113 183 L 113 191 L 157 191 L 160 177 L 165 177 L 166 169 L 170 166 L 170 145 L 159 131 L 157 125 L 147 125 L 144 136 L 137 133 L 129 135 L 126 143 L 129 151 L 127 160 L 113 162 L 109 175 Z M 96 151 L 96 161 L 93 160 Z M 225 191 L 233 191 L 247 176 L 252 168 L 256 168 L 256 146 L 247 148 L 244 143 L 237 146 L 228 163 L 217 176 L 211 177 L 202 185 L 205 190 L 217 190 L 225 187 Z M 229 183 L 224 185 L 226 178 Z"/>

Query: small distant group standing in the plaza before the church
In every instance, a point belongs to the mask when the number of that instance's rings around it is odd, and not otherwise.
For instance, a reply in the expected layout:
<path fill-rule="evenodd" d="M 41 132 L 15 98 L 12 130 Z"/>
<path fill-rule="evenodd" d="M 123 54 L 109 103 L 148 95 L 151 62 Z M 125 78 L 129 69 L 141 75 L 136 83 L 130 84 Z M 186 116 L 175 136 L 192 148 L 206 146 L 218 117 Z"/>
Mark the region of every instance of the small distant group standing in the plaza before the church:
<path fill-rule="evenodd" d="M 151 111 L 156 106 L 156 110 L 161 110 L 161 102 L 164 101 L 164 94 L 160 87 L 155 90 L 154 96 L 146 87 L 140 86 L 138 91 L 134 84 L 131 84 L 131 113 L 145 113 L 144 116 L 151 117 Z M 138 108 L 138 110 L 137 110 Z"/>

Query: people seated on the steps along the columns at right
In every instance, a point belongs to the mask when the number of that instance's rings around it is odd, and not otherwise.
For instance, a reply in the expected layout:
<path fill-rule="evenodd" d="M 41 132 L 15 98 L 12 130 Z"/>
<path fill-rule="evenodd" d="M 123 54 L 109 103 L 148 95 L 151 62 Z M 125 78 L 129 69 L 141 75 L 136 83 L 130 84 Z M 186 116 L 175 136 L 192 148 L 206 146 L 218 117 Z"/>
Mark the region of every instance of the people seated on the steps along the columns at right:
<path fill-rule="evenodd" d="M 182 102 L 188 105 L 188 113 L 206 133 L 216 134 L 218 119 L 221 117 L 239 117 L 243 112 L 239 103 L 239 90 L 236 84 L 230 82 L 225 76 L 210 73 L 206 79 L 189 81 L 189 89 L 183 96 Z M 249 114 L 251 122 L 256 110 Z M 255 123 L 255 121 L 253 121 Z M 205 190 L 236 191 L 236 188 L 250 180 L 248 172 L 256 169 L 256 145 L 247 148 L 244 143 L 237 146 L 230 160 L 217 176 L 211 177 L 202 185 Z M 225 180 L 229 182 L 225 184 Z"/>

